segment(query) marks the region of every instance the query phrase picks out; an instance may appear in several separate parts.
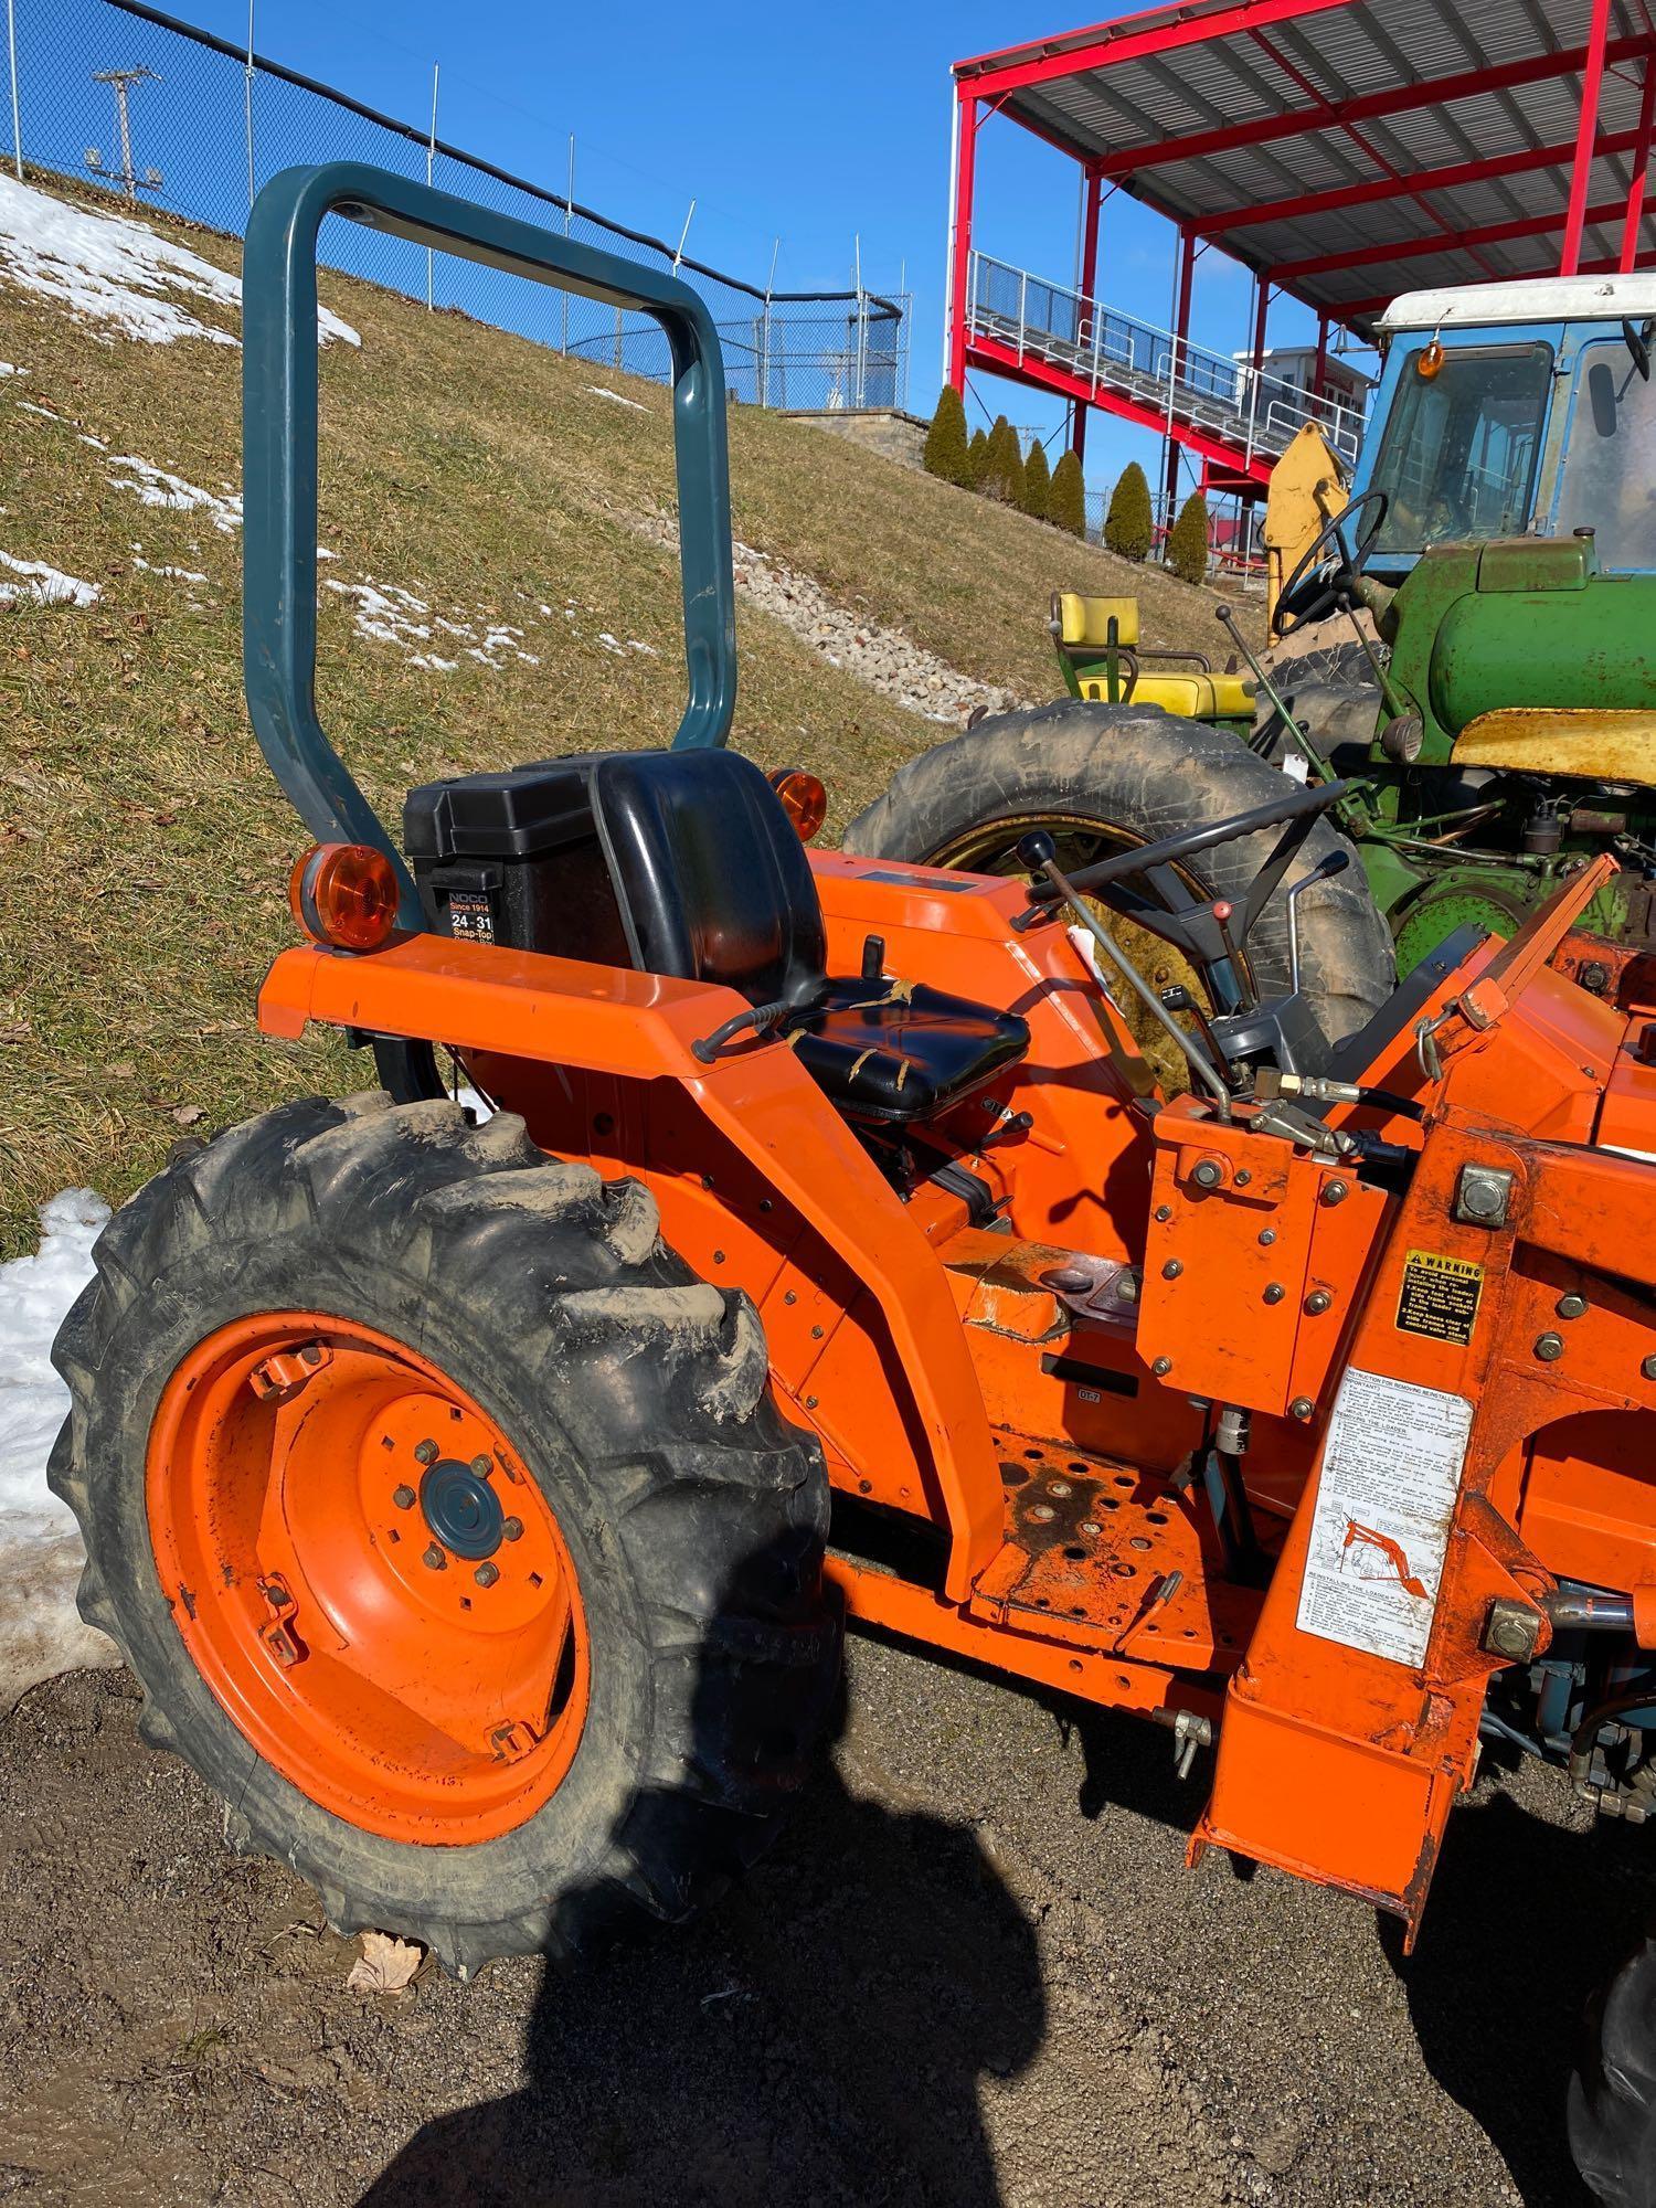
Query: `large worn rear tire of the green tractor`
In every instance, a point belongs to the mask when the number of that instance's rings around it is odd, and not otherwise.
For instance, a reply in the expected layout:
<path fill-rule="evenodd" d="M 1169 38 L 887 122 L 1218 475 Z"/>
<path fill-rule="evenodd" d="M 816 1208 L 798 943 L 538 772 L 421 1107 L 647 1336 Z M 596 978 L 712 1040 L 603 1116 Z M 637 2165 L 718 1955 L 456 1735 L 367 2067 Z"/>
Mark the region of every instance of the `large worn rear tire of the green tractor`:
<path fill-rule="evenodd" d="M 967 735 L 910 760 L 890 790 L 846 830 L 846 850 L 874 859 L 960 863 L 1016 872 L 1018 837 L 1049 821 L 1073 821 L 1106 843 L 1150 843 L 1179 828 L 1234 819 L 1283 795 L 1276 768 L 1230 733 L 1135 707 L 1060 700 L 1031 713 L 1002 713 Z M 1005 839 L 991 830 L 1005 828 Z M 1053 830 L 1062 835 L 1062 830 Z M 1221 843 L 1181 866 L 1201 894 L 1241 901 L 1281 830 Z M 954 857 L 974 848 L 974 857 Z M 1327 1044 L 1349 1036 L 1395 985 L 1391 938 L 1376 912 L 1356 850 L 1316 821 L 1294 866 L 1298 881 L 1331 850 L 1349 866 L 1301 899 L 1303 994 Z M 1289 985 L 1283 892 L 1270 901 L 1250 941 L 1248 965 L 1265 996 Z"/>

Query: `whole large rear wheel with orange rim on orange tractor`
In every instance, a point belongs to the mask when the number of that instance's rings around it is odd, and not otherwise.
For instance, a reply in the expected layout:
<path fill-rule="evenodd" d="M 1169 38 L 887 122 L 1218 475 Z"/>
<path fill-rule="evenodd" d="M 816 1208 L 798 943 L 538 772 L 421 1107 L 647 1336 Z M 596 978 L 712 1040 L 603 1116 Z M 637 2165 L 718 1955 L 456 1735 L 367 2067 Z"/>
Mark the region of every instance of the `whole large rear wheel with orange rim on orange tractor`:
<path fill-rule="evenodd" d="M 95 1248 L 51 1482 L 139 1731 L 457 1974 L 687 1917 L 839 1676 L 828 1479 L 638 1181 L 453 1102 L 230 1128 Z"/>

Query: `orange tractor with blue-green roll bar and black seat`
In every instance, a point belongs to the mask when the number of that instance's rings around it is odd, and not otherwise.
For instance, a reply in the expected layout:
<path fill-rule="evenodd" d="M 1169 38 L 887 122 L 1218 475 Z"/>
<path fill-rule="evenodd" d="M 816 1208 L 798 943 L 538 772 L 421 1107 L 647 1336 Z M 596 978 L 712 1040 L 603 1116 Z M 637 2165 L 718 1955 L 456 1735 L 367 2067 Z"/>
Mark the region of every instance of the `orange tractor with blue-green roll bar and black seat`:
<path fill-rule="evenodd" d="M 411 866 L 311 696 L 329 212 L 651 314 L 676 364 L 680 742 L 415 790 Z M 687 287 L 291 170 L 245 344 L 250 711 L 318 837 L 261 1022 L 347 1029 L 382 1086 L 230 1128 L 110 1221 L 53 1459 L 82 1607 L 236 1844 L 457 1972 L 680 1919 L 808 1775 L 841 1614 L 1144 1716 L 1201 1780 L 1192 1864 L 1406 1941 L 1484 1738 L 1643 1819 L 1656 969 L 1577 930 L 1612 861 L 1307 1053 L 1248 941 L 1274 905 L 1292 952 L 1349 863 L 1338 784 L 1075 879 L 1036 837 L 1031 888 L 808 852 L 821 788 L 722 749 Z M 1181 863 L 1221 843 L 1252 885 L 1201 903 Z M 1170 1022 L 1119 914 L 1239 1009 Z M 1656 2197 L 1654 2014 L 1643 1945 L 1570 2106 L 1616 2204 Z"/>

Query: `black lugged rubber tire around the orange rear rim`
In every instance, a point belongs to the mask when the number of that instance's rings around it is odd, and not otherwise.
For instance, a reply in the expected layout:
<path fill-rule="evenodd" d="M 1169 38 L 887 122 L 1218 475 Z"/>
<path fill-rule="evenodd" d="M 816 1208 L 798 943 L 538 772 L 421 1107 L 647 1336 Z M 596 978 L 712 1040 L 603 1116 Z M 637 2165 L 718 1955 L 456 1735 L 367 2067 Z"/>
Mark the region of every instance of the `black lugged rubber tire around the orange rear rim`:
<path fill-rule="evenodd" d="M 587 1947 L 640 1912 L 682 1919 L 757 1855 L 832 1705 L 828 1482 L 771 1400 L 753 1305 L 660 1243 L 643 1186 L 545 1157 L 510 1113 L 475 1128 L 450 1102 L 309 1100 L 172 1164 L 115 1214 L 95 1265 L 53 1351 L 73 1409 L 51 1482 L 86 1539 L 79 1607 L 144 1685 L 144 1735 L 223 1795 L 238 1846 L 291 1864 L 336 1930 L 408 1934 L 459 1974 Z M 406 1345 L 479 1404 L 572 1559 L 590 1656 L 578 1744 L 550 1800 L 495 1837 L 464 1844 L 461 1822 L 417 1844 L 322 1808 L 254 1749 L 185 1645 L 199 1596 L 157 1563 L 157 1406 L 219 1329 L 285 1312 Z M 254 1426 L 256 1393 L 236 1389 L 227 1415 Z M 296 1444 L 272 1446 L 291 1524 Z M 415 1548 L 431 1539 L 400 1508 Z M 362 1572 L 391 1557 L 378 1539 Z M 455 1592 L 468 1557 L 442 1574 Z M 495 1658 L 477 1660 L 488 1678 Z M 497 1716 L 477 1735 L 479 1786 Z M 367 1751 L 355 1738 L 342 1753 L 382 1755 L 389 1735 L 373 1720 L 362 1733 Z"/>

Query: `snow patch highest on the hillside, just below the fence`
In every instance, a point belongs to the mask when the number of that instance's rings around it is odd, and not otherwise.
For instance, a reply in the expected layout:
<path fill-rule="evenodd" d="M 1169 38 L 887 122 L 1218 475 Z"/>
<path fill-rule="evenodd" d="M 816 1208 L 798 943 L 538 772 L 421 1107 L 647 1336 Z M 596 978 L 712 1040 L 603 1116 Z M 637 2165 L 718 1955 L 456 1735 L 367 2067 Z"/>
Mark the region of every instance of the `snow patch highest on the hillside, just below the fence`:
<path fill-rule="evenodd" d="M 75 208 L 49 192 L 35 192 L 15 177 L 0 177 L 0 276 L 20 291 L 68 307 L 71 314 L 106 322 L 148 344 L 205 338 L 208 344 L 241 344 L 227 329 L 203 322 L 174 294 L 241 309 L 241 278 L 219 269 L 148 223 L 128 214 Z M 362 344 L 362 338 L 327 307 L 316 316 L 327 344 Z"/>

